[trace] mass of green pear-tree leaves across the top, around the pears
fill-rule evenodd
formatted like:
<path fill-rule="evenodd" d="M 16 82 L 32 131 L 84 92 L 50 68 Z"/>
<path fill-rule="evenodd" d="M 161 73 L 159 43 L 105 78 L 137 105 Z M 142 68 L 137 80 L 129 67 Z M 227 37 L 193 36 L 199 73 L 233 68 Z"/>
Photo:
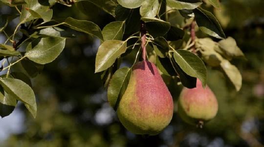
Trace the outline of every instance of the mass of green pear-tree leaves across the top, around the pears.
<path fill-rule="evenodd" d="M 212 7 L 208 9 L 208 5 L 201 0 L 44 0 L 43 3 L 39 0 L 1 1 L 14 10 L 18 9 L 16 14 L 0 16 L 0 20 L 3 20 L 0 21 L 0 32 L 9 38 L 0 45 L 3 74 L 0 80 L 2 117 L 12 112 L 2 110 L 9 110 L 10 106 L 14 109 L 18 100 L 35 117 L 36 100 L 28 78 L 35 77 L 43 70 L 44 64 L 55 60 L 65 48 L 66 42 L 78 37 L 80 32 L 101 41 L 94 59 L 95 72 L 102 74 L 105 86 L 109 85 L 110 97 L 121 97 L 126 88 L 126 80 L 129 80 L 126 75 L 131 66 L 120 68 L 120 63 L 127 58 L 132 63 L 141 60 L 140 24 L 146 25 L 148 59 L 157 65 L 165 79 L 174 83 L 181 82 L 183 86 L 192 88 L 196 78 L 199 78 L 205 85 L 207 79 L 212 79 L 212 75 L 207 72 L 211 73 L 209 67 L 213 67 L 226 75 L 226 79 L 237 91 L 242 87 L 242 76 L 234 63 L 239 61 L 236 58 L 244 58 L 244 53 L 233 38 L 225 39 L 219 24 L 221 19 L 218 21 L 208 11 Z M 218 0 L 206 0 L 206 3 L 221 9 Z M 61 4 L 74 5 L 81 11 L 86 11 L 88 5 L 93 4 L 106 13 L 109 22 L 78 20 L 78 16 L 68 13 L 63 18 L 58 17 L 59 14 L 55 11 Z M 179 17 L 183 20 L 180 23 L 173 20 L 176 12 L 179 12 Z M 220 12 L 216 12 L 217 16 L 220 15 L 218 13 Z M 90 12 L 86 15 L 96 14 Z M 8 24 L 16 17 L 20 21 L 11 32 L 7 30 L 10 27 Z M 198 26 L 194 29 L 197 31 L 199 28 L 195 39 L 191 35 L 194 20 Z M 200 31 L 216 38 L 205 37 Z M 26 76 L 15 76 L 16 71 Z M 220 73 L 214 75 L 221 77 Z M 24 99 L 24 96 L 28 97 Z"/>

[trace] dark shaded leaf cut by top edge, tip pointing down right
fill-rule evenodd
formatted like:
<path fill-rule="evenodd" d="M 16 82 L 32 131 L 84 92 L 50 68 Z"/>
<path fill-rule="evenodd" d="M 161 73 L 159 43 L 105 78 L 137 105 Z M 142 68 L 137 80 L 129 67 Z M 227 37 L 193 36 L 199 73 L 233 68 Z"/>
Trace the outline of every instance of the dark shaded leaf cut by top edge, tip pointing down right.
<path fill-rule="evenodd" d="M 115 7 L 117 6 L 115 0 L 88 0 L 88 1 L 96 5 L 97 7 L 101 8 L 105 12 L 109 13 L 113 17 L 115 17 L 114 10 Z"/>

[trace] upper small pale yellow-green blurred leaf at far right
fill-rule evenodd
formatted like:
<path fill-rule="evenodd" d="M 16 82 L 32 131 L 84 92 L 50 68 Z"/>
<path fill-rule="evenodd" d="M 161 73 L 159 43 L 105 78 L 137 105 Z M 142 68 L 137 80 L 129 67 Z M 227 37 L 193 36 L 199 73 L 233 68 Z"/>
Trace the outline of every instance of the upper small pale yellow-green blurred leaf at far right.
<path fill-rule="evenodd" d="M 232 57 L 244 57 L 243 52 L 237 46 L 236 40 L 232 37 L 222 39 L 219 43 L 219 47 L 225 56 Z"/>

